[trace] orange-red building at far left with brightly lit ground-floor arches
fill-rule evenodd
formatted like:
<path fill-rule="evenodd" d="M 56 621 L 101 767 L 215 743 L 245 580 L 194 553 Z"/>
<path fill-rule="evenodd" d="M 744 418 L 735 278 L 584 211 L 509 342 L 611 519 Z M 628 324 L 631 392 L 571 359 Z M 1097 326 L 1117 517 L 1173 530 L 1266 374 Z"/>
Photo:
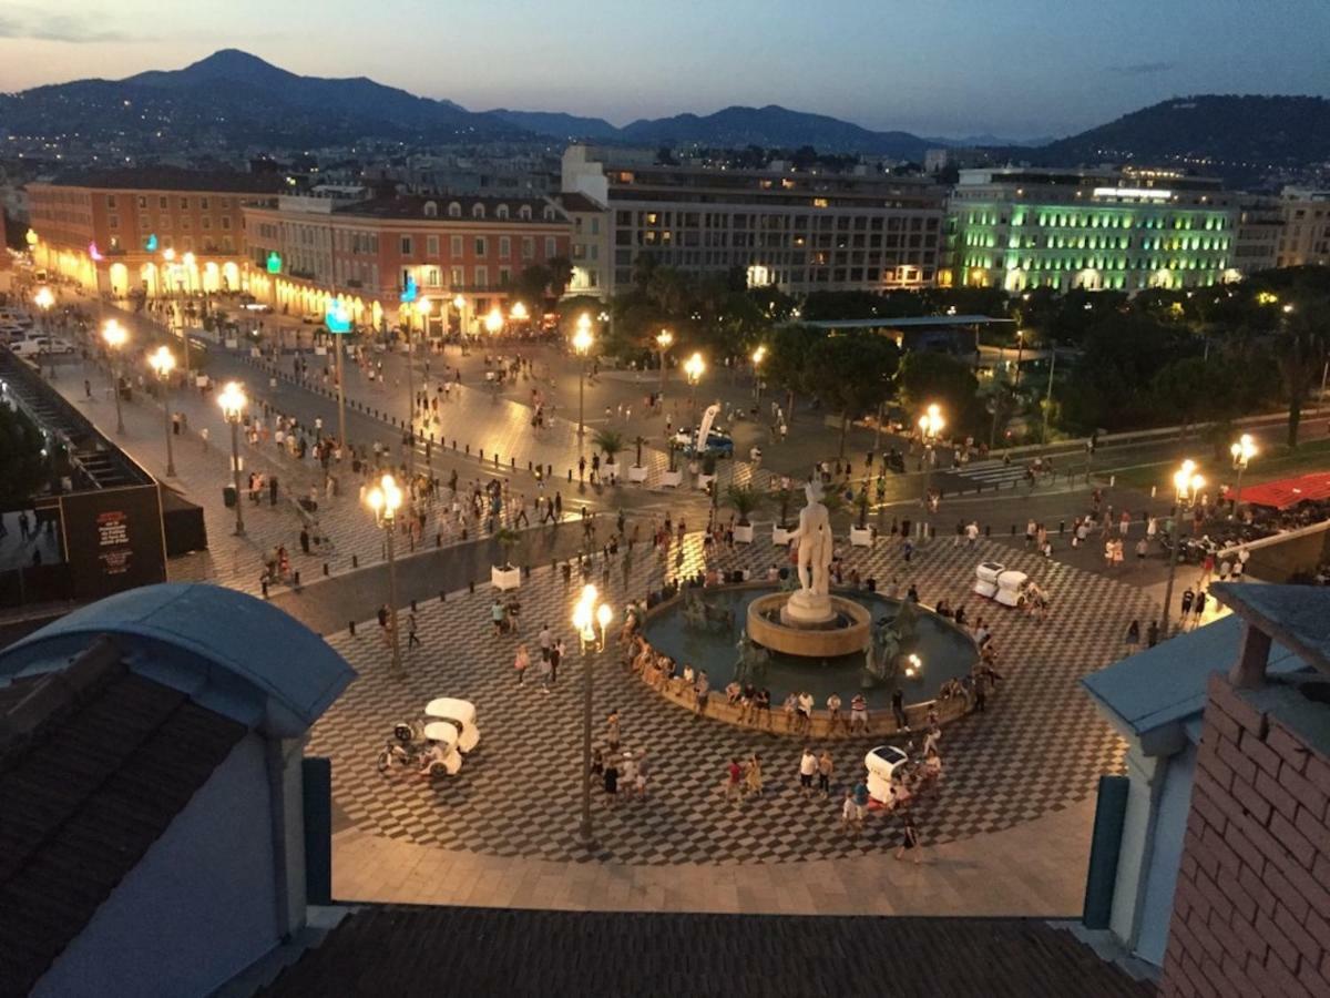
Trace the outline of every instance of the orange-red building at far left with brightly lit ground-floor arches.
<path fill-rule="evenodd" d="M 39 267 L 114 298 L 238 291 L 243 206 L 278 178 L 165 166 L 72 173 L 28 185 Z"/>

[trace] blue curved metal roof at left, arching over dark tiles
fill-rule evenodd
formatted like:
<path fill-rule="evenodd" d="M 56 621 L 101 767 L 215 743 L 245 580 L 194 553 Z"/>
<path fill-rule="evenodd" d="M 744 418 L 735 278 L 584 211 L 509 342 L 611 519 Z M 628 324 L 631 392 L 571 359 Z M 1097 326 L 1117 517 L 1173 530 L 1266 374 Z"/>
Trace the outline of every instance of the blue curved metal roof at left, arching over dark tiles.
<path fill-rule="evenodd" d="M 145 585 L 68 613 L 0 652 L 0 684 L 64 668 L 108 635 L 136 672 L 278 737 L 310 728 L 355 679 L 270 603 L 202 583 Z"/>

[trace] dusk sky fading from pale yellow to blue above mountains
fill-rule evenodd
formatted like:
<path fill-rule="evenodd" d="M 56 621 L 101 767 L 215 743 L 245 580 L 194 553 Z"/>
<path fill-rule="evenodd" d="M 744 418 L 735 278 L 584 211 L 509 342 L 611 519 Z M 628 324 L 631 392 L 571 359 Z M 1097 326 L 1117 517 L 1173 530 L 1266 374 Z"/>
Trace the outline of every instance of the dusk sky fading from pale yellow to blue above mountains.
<path fill-rule="evenodd" d="M 1184 0 L 1164 11 L 1133 0 L 1096 28 L 1092 53 L 1085 25 L 1055 20 L 1043 0 L 1008 5 L 1001 24 L 987 24 L 974 0 L 943 7 L 855 11 L 858 29 L 847 33 L 845 19 L 810 21 L 786 0 L 690 4 L 685 17 L 625 15 L 597 0 L 580 20 L 549 24 L 535 21 L 527 3 L 462 4 L 446 25 L 402 31 L 411 3 L 387 0 L 370 16 L 336 0 L 319 8 L 321 44 L 309 45 L 301 11 L 273 12 L 257 0 L 233 4 L 234 21 L 251 25 L 245 29 L 202 29 L 188 11 L 141 0 L 94 25 L 80 20 L 77 4 L 17 4 L 0 15 L 0 89 L 121 79 L 237 47 L 291 72 L 367 76 L 471 110 L 567 112 L 624 125 L 779 104 L 879 130 L 1011 140 L 1072 134 L 1174 96 L 1330 93 L 1330 67 L 1317 51 L 1330 9 L 1303 0 L 1286 3 L 1290 16 L 1260 36 L 1241 31 L 1237 0 L 1204 8 Z M 1142 35 L 1145 23 L 1152 28 Z M 641 45 L 642 36 L 654 44 Z M 1178 37 L 1189 44 L 1180 48 Z M 1017 57 L 1032 47 L 1039 59 Z M 505 59 L 509 52 L 521 57 Z"/>

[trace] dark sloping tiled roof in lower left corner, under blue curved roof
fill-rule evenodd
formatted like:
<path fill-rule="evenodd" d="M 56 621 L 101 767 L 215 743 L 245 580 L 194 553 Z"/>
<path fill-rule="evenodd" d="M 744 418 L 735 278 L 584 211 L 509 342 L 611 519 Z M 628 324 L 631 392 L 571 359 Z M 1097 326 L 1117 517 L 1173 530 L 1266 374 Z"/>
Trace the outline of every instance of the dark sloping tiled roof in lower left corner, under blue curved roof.
<path fill-rule="evenodd" d="M 245 732 L 109 640 L 0 687 L 0 995 L 32 989 Z"/>

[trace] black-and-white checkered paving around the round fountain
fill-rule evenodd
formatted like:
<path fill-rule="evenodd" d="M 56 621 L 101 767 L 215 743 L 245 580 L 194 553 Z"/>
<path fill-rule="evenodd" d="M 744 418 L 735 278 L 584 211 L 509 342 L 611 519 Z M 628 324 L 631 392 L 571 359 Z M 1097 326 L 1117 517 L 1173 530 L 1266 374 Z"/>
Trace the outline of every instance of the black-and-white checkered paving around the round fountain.
<path fill-rule="evenodd" d="M 696 571 L 698 536 L 685 542 L 680 571 Z M 1080 692 L 1077 679 L 1116 660 L 1133 617 L 1145 619 L 1148 600 L 1113 579 L 1081 572 L 996 544 L 976 550 L 932 542 L 910 566 L 899 548 L 879 539 L 870 552 L 845 552 L 861 572 L 900 588 L 915 583 L 924 603 L 939 597 L 964 603 L 968 616 L 990 623 L 1001 649 L 1004 676 L 988 711 L 944 729 L 940 752 L 946 770 L 939 788 L 918 802 L 916 824 L 926 842 L 979 836 L 1031 821 L 1093 793 L 1101 773 L 1121 766 L 1124 745 Z M 773 548 L 759 543 L 721 555 L 728 567 L 759 571 Z M 1000 556 L 1029 572 L 1051 595 L 1044 623 L 988 604 L 968 592 L 974 567 Z M 672 550 L 668 568 L 674 571 Z M 610 570 L 601 584 L 616 607 L 658 584 L 665 564 L 638 547 Z M 571 649 L 568 623 L 580 589 L 549 570 L 537 571 L 520 589 L 523 639 L 536 647 L 548 621 Z M 839 830 L 839 804 L 849 781 L 859 776 L 871 740 L 829 741 L 837 770 L 830 800 L 799 794 L 795 739 L 746 731 L 698 719 L 668 703 L 618 664 L 606 651 L 595 660 L 595 728 L 602 743 L 612 708 L 622 719 L 625 748 L 645 749 L 650 760 L 649 796 L 606 805 L 593 788 L 597 845 L 579 842 L 581 788 L 581 661 L 572 651 L 548 695 L 528 676 L 516 685 L 516 640 L 489 633 L 491 591 L 450 595 L 419 607 L 423 648 L 406 655 L 407 677 L 394 680 L 388 651 L 371 624 L 331 639 L 359 671 L 313 732 L 309 750 L 332 760 L 335 806 L 355 826 L 392 838 L 495 856 L 556 861 L 606 860 L 629 864 L 785 862 L 871 854 L 899 842 L 899 824 L 872 814 L 858 838 Z M 404 625 L 403 625 L 404 628 Z M 532 671 L 533 672 L 533 671 Z M 438 696 L 472 700 L 481 741 L 452 778 L 424 781 L 410 774 L 380 776 L 375 754 L 392 724 L 420 716 Z M 777 712 L 779 713 L 779 712 Z M 782 721 L 775 720 L 777 725 Z M 815 745 L 821 748 L 821 744 Z M 766 793 L 726 802 L 721 781 L 729 758 L 762 757 Z"/>

